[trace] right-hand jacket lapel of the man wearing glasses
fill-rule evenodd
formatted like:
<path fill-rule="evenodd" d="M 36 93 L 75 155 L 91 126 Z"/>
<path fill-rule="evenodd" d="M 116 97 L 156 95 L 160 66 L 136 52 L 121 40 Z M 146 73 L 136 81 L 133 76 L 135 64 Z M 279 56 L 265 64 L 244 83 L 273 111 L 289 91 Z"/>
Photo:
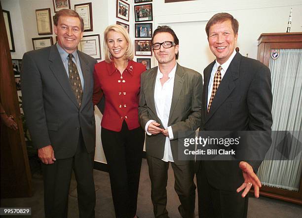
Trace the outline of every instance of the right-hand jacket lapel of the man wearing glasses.
<path fill-rule="evenodd" d="M 170 114 L 169 114 L 169 121 L 178 102 L 180 93 L 183 89 L 183 83 L 184 83 L 183 75 L 184 72 L 182 67 L 179 64 L 177 64 L 175 78 L 174 78 L 174 87 L 173 87 L 172 103 L 171 103 Z"/>

